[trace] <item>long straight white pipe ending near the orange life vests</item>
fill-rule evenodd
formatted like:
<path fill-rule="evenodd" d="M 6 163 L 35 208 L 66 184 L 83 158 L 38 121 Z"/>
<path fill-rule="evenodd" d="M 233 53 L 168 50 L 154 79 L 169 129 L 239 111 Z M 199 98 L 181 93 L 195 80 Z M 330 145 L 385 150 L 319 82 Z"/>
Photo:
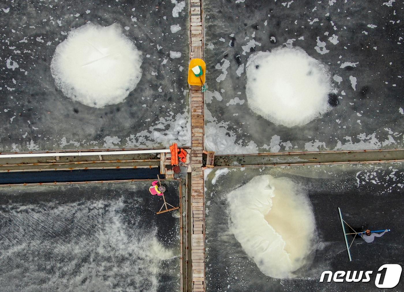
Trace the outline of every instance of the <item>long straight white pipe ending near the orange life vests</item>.
<path fill-rule="evenodd" d="M 156 150 L 122 150 L 122 151 L 87 151 L 87 152 L 34 152 L 34 153 L 13 153 L 0 154 L 0 158 L 12 157 L 49 157 L 49 156 L 91 156 L 91 155 L 123 155 L 123 154 L 144 154 L 144 153 L 167 153 L 170 149 Z"/>

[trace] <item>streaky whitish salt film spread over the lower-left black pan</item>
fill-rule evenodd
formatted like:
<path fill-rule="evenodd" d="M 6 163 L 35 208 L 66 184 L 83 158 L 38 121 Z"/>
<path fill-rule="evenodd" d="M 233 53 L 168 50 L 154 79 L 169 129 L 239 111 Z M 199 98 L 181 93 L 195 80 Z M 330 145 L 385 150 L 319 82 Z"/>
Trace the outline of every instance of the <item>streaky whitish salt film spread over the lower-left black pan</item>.
<path fill-rule="evenodd" d="M 127 208 L 126 198 L 3 205 L 2 291 L 159 291 L 178 251 Z"/>

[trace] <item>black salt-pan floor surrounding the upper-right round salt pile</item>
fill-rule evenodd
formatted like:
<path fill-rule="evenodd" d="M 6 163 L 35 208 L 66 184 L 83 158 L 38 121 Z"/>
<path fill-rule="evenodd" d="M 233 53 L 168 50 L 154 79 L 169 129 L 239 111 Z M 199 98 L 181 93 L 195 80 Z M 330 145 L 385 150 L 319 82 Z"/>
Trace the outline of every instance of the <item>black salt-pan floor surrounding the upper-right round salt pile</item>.
<path fill-rule="evenodd" d="M 333 150 L 338 142 L 349 142 L 345 137 L 358 143 L 361 140 L 357 136 L 366 133 L 364 141 L 372 140 L 374 134 L 378 143 L 359 146 L 360 149 L 403 147 L 404 115 L 400 113 L 400 107 L 404 108 L 403 79 L 400 76 L 404 42 L 400 39 L 402 24 L 398 22 L 402 21 L 403 3 L 392 2 L 389 6 L 388 1 L 345 2 L 203 1 L 208 90 L 216 90 L 223 97 L 221 101 L 213 98 L 206 107 L 217 123 L 227 123 L 236 141 L 242 140 L 244 146 L 253 141 L 259 152 L 316 150 L 317 146 L 320 150 Z M 328 40 L 333 34 L 338 36 L 337 44 Z M 326 43 L 328 53 L 316 51 L 318 37 Z M 242 46 L 251 40 L 261 46 L 256 45 L 242 54 Z M 330 111 L 301 127 L 275 125 L 251 111 L 246 98 L 245 70 L 240 77 L 236 74 L 252 52 L 286 45 L 303 48 L 328 67 L 331 77 L 339 75 L 343 79 L 341 84 L 332 81 L 338 93 L 329 96 Z M 228 60 L 230 67 L 226 78 L 218 83 L 216 78 L 223 72 L 215 66 L 222 65 L 222 59 Z M 345 62 L 358 64 L 341 68 Z M 349 76 L 357 78 L 356 90 Z M 244 104 L 226 106 L 235 97 L 244 100 Z M 289 143 L 281 144 L 279 150 L 263 147 L 270 145 L 275 135 L 283 143 L 290 141 L 292 147 L 285 149 Z M 389 136 L 395 142 L 388 142 Z M 344 149 L 353 148 L 358 146 L 348 145 Z M 220 152 L 231 154 L 226 149 Z"/>

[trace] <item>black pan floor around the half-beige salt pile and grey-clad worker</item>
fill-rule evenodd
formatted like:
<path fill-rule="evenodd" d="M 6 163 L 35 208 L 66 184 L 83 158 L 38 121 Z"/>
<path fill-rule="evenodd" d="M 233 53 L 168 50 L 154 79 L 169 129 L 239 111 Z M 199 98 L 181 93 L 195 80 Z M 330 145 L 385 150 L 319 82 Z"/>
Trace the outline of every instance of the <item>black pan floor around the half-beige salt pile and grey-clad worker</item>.
<path fill-rule="evenodd" d="M 296 271 L 296 278 L 264 275 L 229 229 L 227 194 L 255 176 L 267 174 L 291 179 L 306 194 L 314 213 L 318 248 L 311 254 L 312 262 Z M 378 291 L 375 277 L 379 267 L 404 265 L 404 163 L 232 168 L 212 185 L 214 176 L 213 171 L 205 181 L 206 291 Z M 355 240 L 349 262 L 338 207 L 358 232 L 368 228 L 391 232 L 370 244 Z M 350 244 L 352 238 L 348 240 Z M 323 271 L 373 274 L 366 283 L 320 283 Z M 402 291 L 403 285 L 401 279 L 393 291 Z"/>

